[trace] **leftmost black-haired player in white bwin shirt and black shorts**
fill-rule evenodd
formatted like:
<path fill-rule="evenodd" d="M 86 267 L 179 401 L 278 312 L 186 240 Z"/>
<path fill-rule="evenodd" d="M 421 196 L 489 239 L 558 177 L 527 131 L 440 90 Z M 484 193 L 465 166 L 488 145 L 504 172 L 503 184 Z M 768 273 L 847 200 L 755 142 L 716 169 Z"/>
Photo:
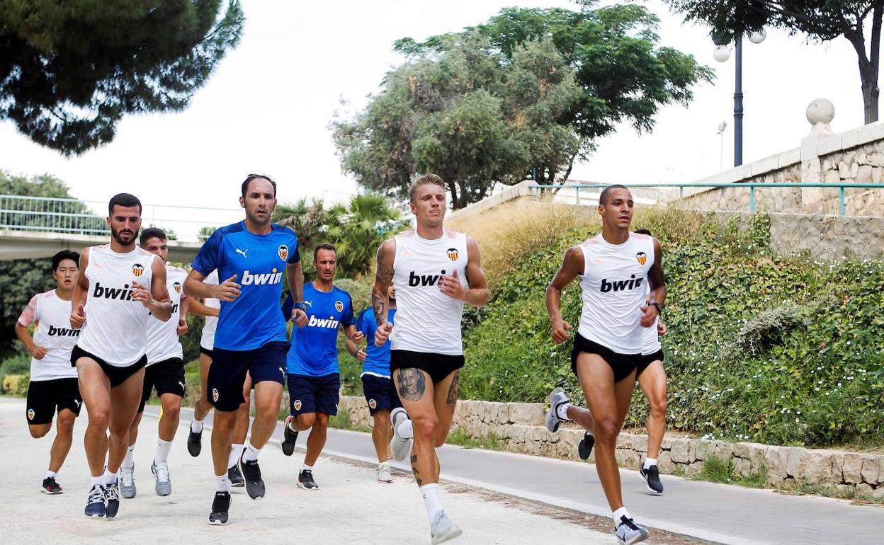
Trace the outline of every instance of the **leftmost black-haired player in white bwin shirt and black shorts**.
<path fill-rule="evenodd" d="M 27 385 L 27 428 L 34 439 L 50 433 L 56 420 L 56 438 L 50 450 L 50 467 L 40 490 L 61 494 L 56 476 L 65 463 L 73 442 L 73 420 L 80 414 L 77 370 L 71 367 L 71 351 L 79 329 L 71 328 L 71 298 L 80 275 L 80 254 L 62 250 L 52 256 L 52 278 L 56 289 L 31 298 L 15 324 L 15 334 L 31 354 L 31 382 Z M 34 338 L 28 326 L 36 323 Z"/>

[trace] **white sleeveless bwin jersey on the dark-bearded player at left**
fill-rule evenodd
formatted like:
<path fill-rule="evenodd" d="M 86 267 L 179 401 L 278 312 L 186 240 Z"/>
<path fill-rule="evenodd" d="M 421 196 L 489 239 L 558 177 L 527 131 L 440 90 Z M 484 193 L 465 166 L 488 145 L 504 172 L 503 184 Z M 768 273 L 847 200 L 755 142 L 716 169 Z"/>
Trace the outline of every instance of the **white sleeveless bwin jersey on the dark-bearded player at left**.
<path fill-rule="evenodd" d="M 141 360 L 148 349 L 149 311 L 132 300 L 132 283 L 150 288 L 156 255 L 135 246 L 118 254 L 110 245 L 89 248 L 85 274 L 89 282 L 86 323 L 77 344 L 115 367 Z"/>

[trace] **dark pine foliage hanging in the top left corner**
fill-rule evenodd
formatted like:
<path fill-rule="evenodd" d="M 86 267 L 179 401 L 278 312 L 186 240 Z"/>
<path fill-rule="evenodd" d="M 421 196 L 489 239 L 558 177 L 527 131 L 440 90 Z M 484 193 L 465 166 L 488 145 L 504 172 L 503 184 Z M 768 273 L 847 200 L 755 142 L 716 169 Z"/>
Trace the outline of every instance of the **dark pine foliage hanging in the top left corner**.
<path fill-rule="evenodd" d="M 72 155 L 126 114 L 183 110 L 240 40 L 239 1 L 221 4 L 0 0 L 0 119 Z"/>

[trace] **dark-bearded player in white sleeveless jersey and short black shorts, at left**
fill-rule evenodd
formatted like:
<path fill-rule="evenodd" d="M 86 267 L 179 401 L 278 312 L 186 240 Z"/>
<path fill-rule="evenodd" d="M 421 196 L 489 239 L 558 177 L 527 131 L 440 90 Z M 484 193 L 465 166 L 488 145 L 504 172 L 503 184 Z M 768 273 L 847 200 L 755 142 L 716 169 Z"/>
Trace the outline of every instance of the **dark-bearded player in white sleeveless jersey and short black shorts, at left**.
<path fill-rule="evenodd" d="M 82 330 L 71 365 L 77 367 L 89 416 L 84 443 L 92 484 L 86 516 L 113 519 L 119 509 L 117 472 L 129 448 L 148 362 L 149 314 L 169 320 L 171 301 L 163 260 L 135 245 L 141 201 L 119 193 L 108 211 L 110 244 L 80 254 L 71 327 Z"/>

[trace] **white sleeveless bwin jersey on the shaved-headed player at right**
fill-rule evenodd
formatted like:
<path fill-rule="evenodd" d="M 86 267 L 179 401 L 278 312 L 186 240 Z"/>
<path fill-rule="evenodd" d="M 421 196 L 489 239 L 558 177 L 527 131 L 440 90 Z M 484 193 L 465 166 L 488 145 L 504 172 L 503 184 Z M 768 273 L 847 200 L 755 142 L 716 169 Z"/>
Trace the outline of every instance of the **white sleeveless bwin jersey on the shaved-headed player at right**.
<path fill-rule="evenodd" d="M 654 262 L 653 238 L 629 234 L 611 244 L 601 234 L 580 245 L 583 250 L 583 312 L 577 329 L 584 338 L 621 354 L 643 352 L 645 329 L 639 323 L 644 288 Z"/>

